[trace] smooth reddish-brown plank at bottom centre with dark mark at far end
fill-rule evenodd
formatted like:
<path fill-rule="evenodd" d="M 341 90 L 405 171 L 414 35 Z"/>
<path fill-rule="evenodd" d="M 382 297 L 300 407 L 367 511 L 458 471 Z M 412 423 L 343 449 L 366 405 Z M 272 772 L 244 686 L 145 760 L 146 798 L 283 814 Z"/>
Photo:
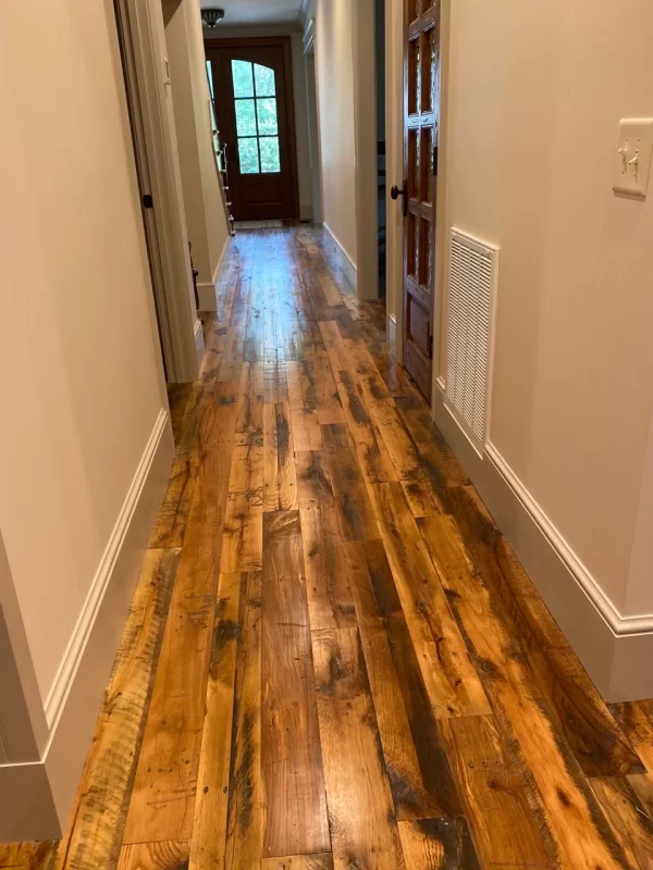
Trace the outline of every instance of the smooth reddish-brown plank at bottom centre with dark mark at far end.
<path fill-rule="evenodd" d="M 328 852 L 329 823 L 298 511 L 267 513 L 262 576 L 263 855 Z"/>

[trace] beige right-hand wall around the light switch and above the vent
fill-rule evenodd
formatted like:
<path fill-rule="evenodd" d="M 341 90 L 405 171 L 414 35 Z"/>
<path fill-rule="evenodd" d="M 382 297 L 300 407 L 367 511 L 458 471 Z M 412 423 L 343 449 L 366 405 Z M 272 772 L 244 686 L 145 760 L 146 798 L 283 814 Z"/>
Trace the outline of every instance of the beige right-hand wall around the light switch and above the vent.
<path fill-rule="evenodd" d="M 612 184 L 619 119 L 653 115 L 653 7 L 451 5 L 447 226 L 501 247 L 491 442 L 617 610 L 651 612 L 641 555 L 631 591 L 628 576 L 653 409 L 653 191 Z"/>

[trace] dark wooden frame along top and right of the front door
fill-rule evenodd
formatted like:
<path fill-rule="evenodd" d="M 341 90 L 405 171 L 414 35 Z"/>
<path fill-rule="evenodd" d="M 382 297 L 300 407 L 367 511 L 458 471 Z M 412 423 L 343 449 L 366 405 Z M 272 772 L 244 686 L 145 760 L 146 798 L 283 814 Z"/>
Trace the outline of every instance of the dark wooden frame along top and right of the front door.
<path fill-rule="evenodd" d="M 239 27 L 219 26 L 213 30 L 205 27 L 204 36 L 209 39 L 220 37 L 289 36 L 293 55 L 293 99 L 295 108 L 295 139 L 297 147 L 297 183 L 299 187 L 299 216 L 303 221 L 313 220 L 310 149 L 308 140 L 308 98 L 304 69 L 304 48 L 301 32 L 295 25 L 243 25 Z M 215 95 L 219 99 L 219 95 Z"/>

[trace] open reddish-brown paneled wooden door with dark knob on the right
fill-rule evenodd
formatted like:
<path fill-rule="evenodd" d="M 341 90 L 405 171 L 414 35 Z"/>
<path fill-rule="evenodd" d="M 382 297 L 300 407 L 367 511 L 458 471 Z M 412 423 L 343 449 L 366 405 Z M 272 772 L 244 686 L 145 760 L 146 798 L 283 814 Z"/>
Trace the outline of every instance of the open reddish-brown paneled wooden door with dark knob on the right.
<path fill-rule="evenodd" d="M 404 366 L 427 400 L 433 375 L 440 2 L 404 0 Z"/>

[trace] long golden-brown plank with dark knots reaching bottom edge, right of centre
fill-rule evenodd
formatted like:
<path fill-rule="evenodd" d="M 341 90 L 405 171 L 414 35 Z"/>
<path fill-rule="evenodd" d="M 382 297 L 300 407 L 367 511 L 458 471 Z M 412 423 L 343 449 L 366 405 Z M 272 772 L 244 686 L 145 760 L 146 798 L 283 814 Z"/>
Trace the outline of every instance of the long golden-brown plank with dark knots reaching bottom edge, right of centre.
<path fill-rule="evenodd" d="M 472 574 L 453 521 L 420 521 L 438 564 L 442 542 L 459 547 L 456 571 L 441 573 L 448 600 L 492 704 L 510 762 L 528 799 L 538 808 L 542 835 L 555 847 L 555 860 L 578 870 L 627 867 L 623 849 L 601 812 L 555 716 L 547 707 L 501 611 L 483 583 Z M 555 865 L 554 865 L 555 866 Z"/>

